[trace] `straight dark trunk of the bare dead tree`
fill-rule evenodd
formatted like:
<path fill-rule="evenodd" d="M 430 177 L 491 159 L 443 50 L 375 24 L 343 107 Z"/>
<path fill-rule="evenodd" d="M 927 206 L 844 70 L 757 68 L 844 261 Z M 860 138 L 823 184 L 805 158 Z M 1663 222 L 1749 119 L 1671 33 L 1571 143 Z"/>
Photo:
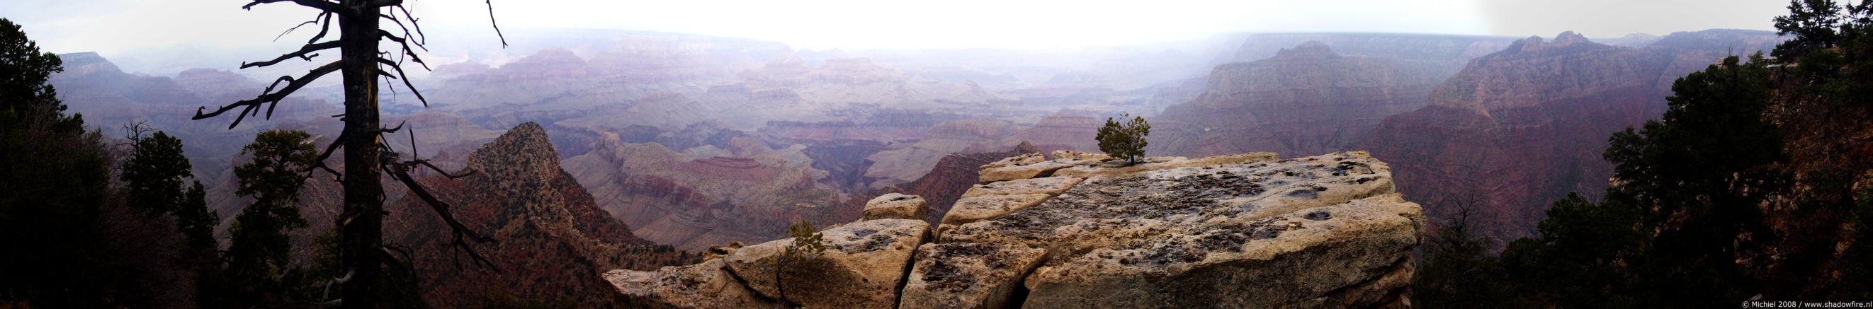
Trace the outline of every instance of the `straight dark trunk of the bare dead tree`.
<path fill-rule="evenodd" d="M 378 15 L 369 0 L 343 0 L 341 52 L 345 75 L 345 217 L 341 225 L 345 266 L 345 307 L 378 307 L 384 255 L 384 185 L 378 178 L 376 56 Z"/>

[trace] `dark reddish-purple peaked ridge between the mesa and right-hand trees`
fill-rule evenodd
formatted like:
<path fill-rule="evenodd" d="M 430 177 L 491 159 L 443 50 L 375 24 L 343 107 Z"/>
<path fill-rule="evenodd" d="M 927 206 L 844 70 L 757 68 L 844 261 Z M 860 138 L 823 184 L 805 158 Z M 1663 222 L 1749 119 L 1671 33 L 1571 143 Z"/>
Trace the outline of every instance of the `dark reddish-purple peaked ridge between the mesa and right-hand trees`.
<path fill-rule="evenodd" d="M 1392 163 L 1399 191 L 1429 200 L 1429 213 L 1476 202 L 1480 225 L 1513 240 L 1532 232 L 1555 199 L 1603 191 L 1613 174 L 1601 159 L 1607 137 L 1663 114 L 1673 81 L 1774 37 L 1680 32 L 1644 49 L 1573 32 L 1521 39 L 1476 58 L 1431 92 L 1431 105 L 1386 118 L 1358 148 Z"/>

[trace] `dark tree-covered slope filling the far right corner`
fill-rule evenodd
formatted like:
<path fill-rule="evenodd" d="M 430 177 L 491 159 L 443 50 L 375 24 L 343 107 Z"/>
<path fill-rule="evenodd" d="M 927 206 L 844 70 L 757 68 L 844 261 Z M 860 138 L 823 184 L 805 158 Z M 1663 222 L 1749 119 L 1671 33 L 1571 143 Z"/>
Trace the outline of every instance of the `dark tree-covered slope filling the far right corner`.
<path fill-rule="evenodd" d="M 1609 139 L 1605 159 L 1616 167 L 1601 199 L 1556 200 L 1540 238 L 1510 242 L 1498 257 L 1435 249 L 1414 287 L 1423 305 L 1869 296 L 1873 112 L 1864 101 L 1873 75 L 1860 67 L 1873 66 L 1873 2 L 1789 7 L 1776 24 L 1794 39 L 1777 58 L 1729 56 L 1678 79 L 1661 120 Z M 1502 290 L 1512 298 L 1487 298 Z"/>

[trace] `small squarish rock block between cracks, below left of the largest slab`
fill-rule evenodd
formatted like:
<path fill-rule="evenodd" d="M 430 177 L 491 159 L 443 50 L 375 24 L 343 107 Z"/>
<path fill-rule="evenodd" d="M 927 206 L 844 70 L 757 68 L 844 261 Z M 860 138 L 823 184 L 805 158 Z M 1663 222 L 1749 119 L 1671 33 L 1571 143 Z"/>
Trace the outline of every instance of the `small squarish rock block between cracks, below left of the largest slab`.
<path fill-rule="evenodd" d="M 1015 243 L 923 243 L 899 307 L 1006 307 L 1043 257 L 1045 249 Z"/>

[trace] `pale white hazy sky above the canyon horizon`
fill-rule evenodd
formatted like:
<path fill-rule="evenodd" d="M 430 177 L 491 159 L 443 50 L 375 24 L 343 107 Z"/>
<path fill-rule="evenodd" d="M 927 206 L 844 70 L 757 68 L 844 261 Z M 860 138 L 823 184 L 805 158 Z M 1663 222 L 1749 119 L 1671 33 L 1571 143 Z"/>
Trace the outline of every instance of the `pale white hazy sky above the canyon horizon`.
<path fill-rule="evenodd" d="M 245 0 L 0 0 L 41 49 L 292 49 L 313 17 Z M 479 0 L 412 0 L 429 30 L 487 32 Z M 1783 0 L 494 0 L 502 28 L 618 28 L 781 41 L 796 49 L 1047 49 L 1201 39 L 1221 32 L 1427 32 L 1590 37 L 1768 30 Z M 472 32 L 468 32 L 472 30 Z M 509 37 L 526 39 L 526 37 Z M 303 41 L 303 39 L 302 39 Z"/>

